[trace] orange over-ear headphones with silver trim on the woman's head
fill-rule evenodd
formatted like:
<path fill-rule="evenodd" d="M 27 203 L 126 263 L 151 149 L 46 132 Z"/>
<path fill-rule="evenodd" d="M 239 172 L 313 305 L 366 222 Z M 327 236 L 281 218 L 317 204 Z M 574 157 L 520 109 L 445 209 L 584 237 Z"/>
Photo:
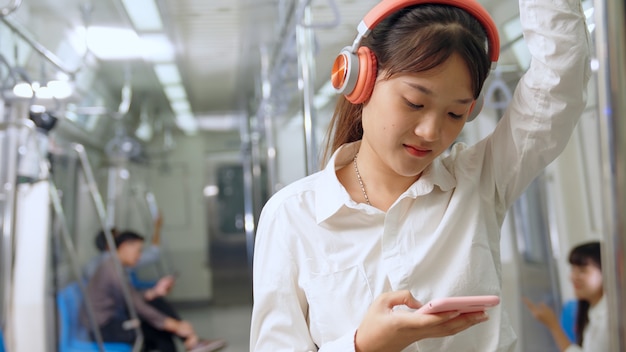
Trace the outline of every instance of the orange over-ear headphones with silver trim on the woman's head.
<path fill-rule="evenodd" d="M 361 40 L 383 19 L 400 9 L 413 5 L 442 4 L 458 7 L 474 16 L 487 33 L 488 54 L 493 70 L 500 55 L 500 38 L 493 19 L 476 0 L 382 0 L 372 8 L 357 27 L 358 34 L 352 43 L 341 50 L 333 63 L 331 83 L 337 93 L 348 101 L 361 104 L 369 99 L 376 81 L 376 55 L 368 47 L 359 47 Z M 468 121 L 473 120 L 482 107 L 482 96 L 474 102 Z M 476 109 L 475 109 L 476 108 Z M 474 112 L 474 110 L 476 110 Z"/>

